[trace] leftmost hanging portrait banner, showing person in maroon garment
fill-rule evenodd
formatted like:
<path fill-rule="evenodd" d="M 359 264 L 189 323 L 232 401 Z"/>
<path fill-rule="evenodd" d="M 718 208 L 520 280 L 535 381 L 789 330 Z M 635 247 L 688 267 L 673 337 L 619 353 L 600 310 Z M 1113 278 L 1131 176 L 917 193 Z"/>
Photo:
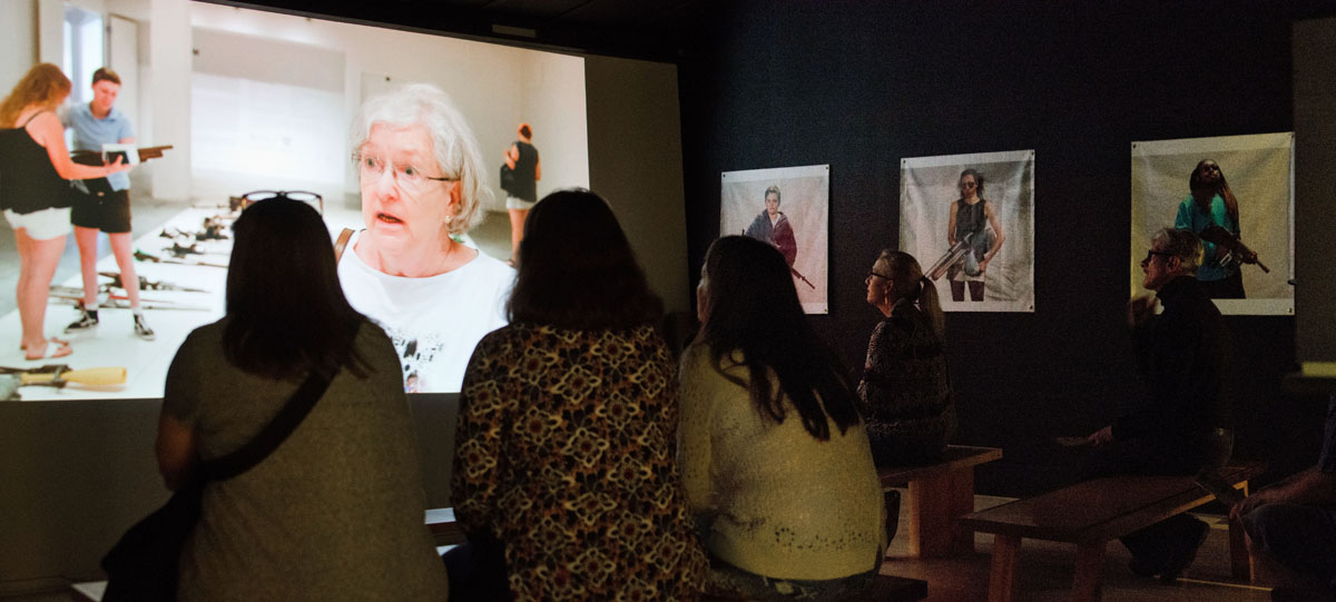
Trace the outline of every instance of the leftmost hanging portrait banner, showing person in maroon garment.
<path fill-rule="evenodd" d="M 719 234 L 747 235 L 784 255 L 803 311 L 827 314 L 831 166 L 725 171 L 720 182 Z"/>

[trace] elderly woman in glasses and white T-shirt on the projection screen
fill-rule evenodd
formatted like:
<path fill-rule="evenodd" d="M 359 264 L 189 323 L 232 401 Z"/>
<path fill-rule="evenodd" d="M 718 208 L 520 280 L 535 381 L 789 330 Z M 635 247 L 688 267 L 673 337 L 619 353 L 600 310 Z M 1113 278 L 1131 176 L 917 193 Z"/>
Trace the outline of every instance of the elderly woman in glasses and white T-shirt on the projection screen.
<path fill-rule="evenodd" d="M 458 391 L 478 339 L 506 324 L 514 283 L 505 263 L 461 242 L 490 194 L 478 143 L 428 84 L 366 100 L 351 141 L 366 228 L 339 256 L 343 292 L 394 340 L 405 383 Z"/>

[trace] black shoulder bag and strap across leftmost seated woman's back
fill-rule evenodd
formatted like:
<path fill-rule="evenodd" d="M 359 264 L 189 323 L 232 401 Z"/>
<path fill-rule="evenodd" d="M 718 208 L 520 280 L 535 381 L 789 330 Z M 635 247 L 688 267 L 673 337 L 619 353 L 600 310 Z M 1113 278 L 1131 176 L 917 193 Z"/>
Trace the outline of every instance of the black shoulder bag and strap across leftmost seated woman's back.
<path fill-rule="evenodd" d="M 269 457 L 302 423 L 329 388 L 330 379 L 311 372 L 278 415 L 239 450 L 202 461 L 163 507 L 139 521 L 102 559 L 107 571 L 103 602 L 175 601 L 180 551 L 199 522 L 204 483 L 246 473 Z"/>

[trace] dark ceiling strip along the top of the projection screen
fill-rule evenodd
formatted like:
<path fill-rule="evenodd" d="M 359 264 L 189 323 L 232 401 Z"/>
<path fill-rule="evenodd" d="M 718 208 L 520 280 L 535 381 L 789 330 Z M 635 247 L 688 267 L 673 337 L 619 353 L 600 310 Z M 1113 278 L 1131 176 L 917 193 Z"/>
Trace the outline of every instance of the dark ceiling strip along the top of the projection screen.
<path fill-rule="evenodd" d="M 673 61 L 695 52 L 709 0 L 199 0 L 510 44 Z"/>

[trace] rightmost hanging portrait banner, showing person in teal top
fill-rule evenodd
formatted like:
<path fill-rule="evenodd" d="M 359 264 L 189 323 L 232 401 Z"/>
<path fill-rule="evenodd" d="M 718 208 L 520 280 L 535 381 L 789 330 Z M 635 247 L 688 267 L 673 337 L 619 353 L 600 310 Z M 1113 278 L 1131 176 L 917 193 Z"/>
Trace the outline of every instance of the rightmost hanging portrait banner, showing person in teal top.
<path fill-rule="evenodd" d="M 1293 145 L 1293 132 L 1132 143 L 1132 294 L 1146 294 L 1150 236 L 1190 228 L 1204 240 L 1197 278 L 1222 314 L 1292 315 Z"/>

